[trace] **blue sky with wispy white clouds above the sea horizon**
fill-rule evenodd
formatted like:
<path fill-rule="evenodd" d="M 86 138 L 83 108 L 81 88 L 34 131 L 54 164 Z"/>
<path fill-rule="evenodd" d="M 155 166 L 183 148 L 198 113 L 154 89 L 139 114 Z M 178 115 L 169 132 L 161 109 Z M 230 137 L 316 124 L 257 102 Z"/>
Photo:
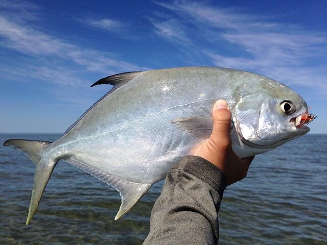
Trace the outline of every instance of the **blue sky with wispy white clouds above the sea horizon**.
<path fill-rule="evenodd" d="M 62 133 L 119 72 L 252 71 L 297 91 L 327 133 L 327 1 L 0 1 L 0 132 Z M 132 101 L 131 101 L 132 103 Z"/>

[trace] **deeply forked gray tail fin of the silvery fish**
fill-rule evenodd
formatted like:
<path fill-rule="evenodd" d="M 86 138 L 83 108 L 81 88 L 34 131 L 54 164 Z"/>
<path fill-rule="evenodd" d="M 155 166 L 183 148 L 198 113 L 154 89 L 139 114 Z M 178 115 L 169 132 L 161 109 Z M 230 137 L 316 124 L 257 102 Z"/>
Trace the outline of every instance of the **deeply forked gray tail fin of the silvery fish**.
<path fill-rule="evenodd" d="M 45 186 L 50 179 L 54 167 L 59 161 L 57 159 L 43 157 L 45 154 L 42 153 L 49 144 L 51 144 L 49 141 L 23 139 L 9 139 L 4 143 L 4 146 L 10 146 L 11 148 L 16 149 L 36 164 L 34 172 L 34 186 L 26 225 L 30 223 L 34 213 L 36 212 Z"/>

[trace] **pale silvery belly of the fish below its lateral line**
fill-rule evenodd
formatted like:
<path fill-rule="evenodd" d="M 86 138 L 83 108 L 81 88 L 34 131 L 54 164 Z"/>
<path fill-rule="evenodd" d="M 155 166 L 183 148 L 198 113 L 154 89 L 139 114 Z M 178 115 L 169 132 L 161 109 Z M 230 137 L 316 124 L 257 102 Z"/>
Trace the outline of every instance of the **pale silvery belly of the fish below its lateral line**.
<path fill-rule="evenodd" d="M 181 132 L 170 121 L 194 114 L 211 116 L 208 114 L 211 104 L 202 101 L 174 107 L 144 116 L 120 129 L 109 127 L 105 133 L 92 134 L 64 151 L 107 175 L 153 184 L 164 179 L 172 165 L 200 140 Z"/>

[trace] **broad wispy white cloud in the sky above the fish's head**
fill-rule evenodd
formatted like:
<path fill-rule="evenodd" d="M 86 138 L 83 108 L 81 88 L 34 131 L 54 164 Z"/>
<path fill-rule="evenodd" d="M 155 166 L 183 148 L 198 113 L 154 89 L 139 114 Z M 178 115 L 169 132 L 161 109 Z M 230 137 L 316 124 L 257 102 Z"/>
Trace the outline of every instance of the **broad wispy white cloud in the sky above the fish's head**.
<path fill-rule="evenodd" d="M 192 47 L 201 50 L 201 55 L 194 48 L 189 49 L 190 53 L 205 55 L 215 66 L 250 70 L 287 84 L 312 86 L 315 81 L 327 93 L 326 69 L 319 65 L 319 59 L 327 55 L 326 33 L 304 30 L 236 8 L 186 1 L 157 4 L 178 16 L 172 25 L 161 18 L 157 26 L 166 24 L 168 30 L 182 33 L 184 40 L 192 40 Z M 181 30 L 174 28 L 178 25 Z M 181 39 L 173 41 L 188 45 Z"/>

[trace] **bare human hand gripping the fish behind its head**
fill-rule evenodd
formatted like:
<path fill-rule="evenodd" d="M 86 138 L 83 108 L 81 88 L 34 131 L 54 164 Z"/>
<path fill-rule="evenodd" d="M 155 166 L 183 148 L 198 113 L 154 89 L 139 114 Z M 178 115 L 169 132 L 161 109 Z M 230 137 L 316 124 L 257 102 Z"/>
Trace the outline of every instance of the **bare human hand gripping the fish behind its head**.
<path fill-rule="evenodd" d="M 231 149 L 231 115 L 224 100 L 216 102 L 213 111 L 214 128 L 211 136 L 200 144 L 193 153 L 213 163 L 226 176 L 227 185 L 244 179 L 253 157 L 239 158 Z"/>

